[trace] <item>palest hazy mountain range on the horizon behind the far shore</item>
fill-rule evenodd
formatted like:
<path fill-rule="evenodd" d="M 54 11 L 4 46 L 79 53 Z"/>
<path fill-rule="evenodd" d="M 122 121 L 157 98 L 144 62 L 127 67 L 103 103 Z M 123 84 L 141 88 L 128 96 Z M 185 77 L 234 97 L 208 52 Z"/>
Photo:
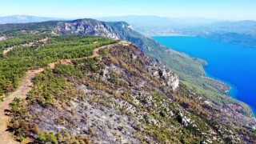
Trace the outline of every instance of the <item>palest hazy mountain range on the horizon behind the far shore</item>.
<path fill-rule="evenodd" d="M 98 18 L 98 20 L 105 22 L 128 22 L 130 25 L 134 26 L 136 30 L 139 30 L 141 32 L 151 32 L 155 30 L 157 30 L 155 31 L 155 33 L 157 33 L 159 30 L 176 30 L 176 32 L 180 30 L 180 32 L 182 32 L 182 30 L 186 29 L 200 28 L 199 30 L 212 29 L 241 33 L 246 33 L 248 31 L 254 30 L 254 33 L 256 33 L 256 29 L 254 29 L 256 26 L 256 22 L 250 20 L 227 21 L 210 18 L 169 18 L 158 16 L 106 17 Z M 148 28 L 150 28 L 150 30 Z M 212 30 L 210 30 L 210 32 Z M 193 31 L 197 30 L 195 29 Z"/>

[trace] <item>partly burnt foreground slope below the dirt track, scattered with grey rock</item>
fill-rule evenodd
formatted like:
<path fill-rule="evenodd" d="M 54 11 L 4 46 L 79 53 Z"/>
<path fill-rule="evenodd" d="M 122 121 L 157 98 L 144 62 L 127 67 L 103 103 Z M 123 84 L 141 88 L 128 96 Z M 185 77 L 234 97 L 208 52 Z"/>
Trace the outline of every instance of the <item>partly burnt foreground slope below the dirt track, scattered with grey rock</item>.
<path fill-rule="evenodd" d="M 26 100 L 10 104 L 14 134 L 42 143 L 252 142 L 240 126 L 211 119 L 218 107 L 208 113 L 203 98 L 191 101 L 174 73 L 130 42 L 105 47 L 37 75 Z"/>

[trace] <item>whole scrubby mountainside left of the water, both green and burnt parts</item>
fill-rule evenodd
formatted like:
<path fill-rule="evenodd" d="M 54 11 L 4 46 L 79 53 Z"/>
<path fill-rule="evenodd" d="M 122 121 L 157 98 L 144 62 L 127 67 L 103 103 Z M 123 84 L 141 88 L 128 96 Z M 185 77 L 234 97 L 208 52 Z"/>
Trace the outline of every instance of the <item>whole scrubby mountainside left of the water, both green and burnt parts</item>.
<path fill-rule="evenodd" d="M 203 78 L 200 60 L 143 37 L 126 22 L 83 19 L 0 30 L 1 50 L 7 50 L 0 57 L 3 96 L 20 90 L 27 70 L 44 68 L 26 99 L 14 98 L 6 110 L 19 141 L 255 141 L 248 106 L 218 90 L 220 82 Z"/>

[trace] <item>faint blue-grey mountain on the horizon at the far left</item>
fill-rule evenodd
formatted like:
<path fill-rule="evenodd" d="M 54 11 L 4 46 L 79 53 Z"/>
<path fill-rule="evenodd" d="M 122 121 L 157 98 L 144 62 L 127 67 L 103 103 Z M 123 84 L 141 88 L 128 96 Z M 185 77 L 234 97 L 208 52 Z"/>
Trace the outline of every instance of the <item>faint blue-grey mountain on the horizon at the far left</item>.
<path fill-rule="evenodd" d="M 46 17 L 34 17 L 29 15 L 11 15 L 6 17 L 0 17 L 0 24 L 5 23 L 28 23 L 28 22 L 46 22 L 52 20 L 64 20 L 65 18 L 46 18 Z"/>

